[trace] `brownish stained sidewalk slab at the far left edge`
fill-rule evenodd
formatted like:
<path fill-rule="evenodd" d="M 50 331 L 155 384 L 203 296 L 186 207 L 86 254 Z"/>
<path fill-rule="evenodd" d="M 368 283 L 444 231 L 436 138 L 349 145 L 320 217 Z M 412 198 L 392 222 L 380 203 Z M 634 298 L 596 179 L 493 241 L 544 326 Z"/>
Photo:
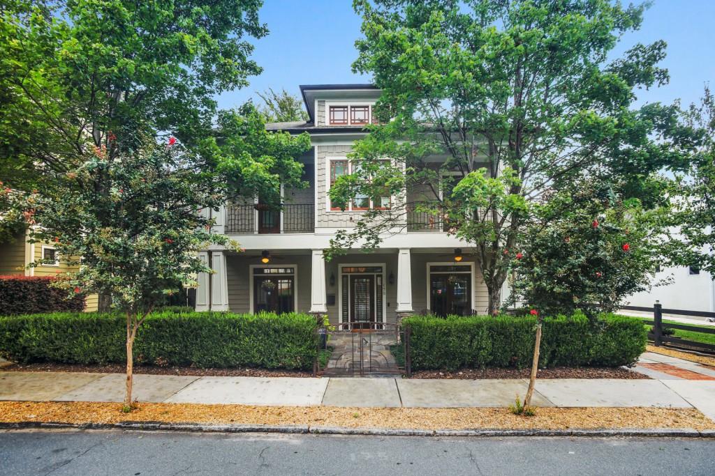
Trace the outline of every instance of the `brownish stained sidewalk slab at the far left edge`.
<path fill-rule="evenodd" d="M 0 400 L 57 400 L 104 377 L 104 373 L 0 372 Z"/>

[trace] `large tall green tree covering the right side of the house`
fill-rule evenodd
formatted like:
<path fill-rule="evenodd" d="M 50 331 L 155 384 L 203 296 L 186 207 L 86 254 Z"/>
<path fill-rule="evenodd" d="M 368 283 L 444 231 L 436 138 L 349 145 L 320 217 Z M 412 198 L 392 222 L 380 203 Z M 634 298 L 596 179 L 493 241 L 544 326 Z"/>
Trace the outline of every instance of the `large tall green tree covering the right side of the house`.
<path fill-rule="evenodd" d="M 638 88 L 666 83 L 665 43 L 613 57 L 646 5 L 606 0 L 356 0 L 363 18 L 353 69 L 381 90 L 380 125 L 355 144 L 352 176 L 330 196 L 395 197 L 332 240 L 332 253 L 379 245 L 415 217 L 464 240 L 501 305 L 533 203 L 584 177 L 627 180 L 656 201 L 649 178 L 684 165 L 690 136 L 679 108 L 633 108 Z M 385 161 L 383 159 L 389 159 Z M 378 171 L 381 169 L 381 171 Z M 413 192 L 405 196 L 407 191 Z M 424 191 L 428 191 L 428 198 Z M 408 201 L 407 206 L 405 201 Z M 373 203 L 375 201 L 373 200 Z"/>

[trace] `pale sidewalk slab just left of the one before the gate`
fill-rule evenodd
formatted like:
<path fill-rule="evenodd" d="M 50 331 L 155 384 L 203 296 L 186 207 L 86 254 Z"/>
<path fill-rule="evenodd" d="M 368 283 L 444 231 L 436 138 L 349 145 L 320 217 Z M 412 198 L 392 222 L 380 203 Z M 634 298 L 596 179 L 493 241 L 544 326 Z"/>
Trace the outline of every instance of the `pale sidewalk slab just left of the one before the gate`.
<path fill-rule="evenodd" d="M 326 386 L 326 378 L 202 377 L 165 401 L 240 405 L 320 405 Z"/>

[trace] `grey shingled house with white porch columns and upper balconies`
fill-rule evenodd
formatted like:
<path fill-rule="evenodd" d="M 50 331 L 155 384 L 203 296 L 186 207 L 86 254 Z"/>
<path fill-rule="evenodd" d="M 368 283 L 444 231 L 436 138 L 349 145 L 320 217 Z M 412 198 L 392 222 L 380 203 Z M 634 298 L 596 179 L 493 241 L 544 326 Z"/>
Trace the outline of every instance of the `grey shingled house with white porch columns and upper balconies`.
<path fill-rule="evenodd" d="M 215 273 L 199 275 L 196 309 L 327 313 L 341 328 L 395 323 L 411 313 L 486 313 L 488 294 L 475 256 L 443 231 L 438 218 L 413 211 L 415 203 L 437 198 L 432 188 L 398 197 L 358 196 L 346 211 L 331 206 L 330 183 L 350 173 L 347 153 L 373 121 L 380 91 L 370 84 L 300 86 L 300 91 L 308 121 L 269 123 L 267 129 L 310 133 L 312 148 L 300 158 L 310 186 L 282 190 L 282 211 L 266 210 L 256 200 L 206 212 L 215 216 L 217 233 L 237 240 L 245 252 L 217 247 L 201 253 Z M 407 207 L 403 229 L 386 236 L 373 253 L 355 249 L 330 262 L 323 258 L 336 231 L 355 226 L 365 210 L 383 206 Z M 457 262 L 455 253 L 464 253 L 463 259 Z"/>

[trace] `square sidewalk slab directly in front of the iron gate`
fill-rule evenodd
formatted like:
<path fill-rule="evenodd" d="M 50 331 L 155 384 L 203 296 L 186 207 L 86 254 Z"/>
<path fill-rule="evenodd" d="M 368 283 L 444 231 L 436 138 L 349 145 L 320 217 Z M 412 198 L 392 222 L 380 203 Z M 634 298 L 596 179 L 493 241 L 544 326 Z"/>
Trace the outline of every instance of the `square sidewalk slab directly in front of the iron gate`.
<path fill-rule="evenodd" d="M 394 378 L 331 378 L 322 404 L 331 407 L 399 407 Z"/>

